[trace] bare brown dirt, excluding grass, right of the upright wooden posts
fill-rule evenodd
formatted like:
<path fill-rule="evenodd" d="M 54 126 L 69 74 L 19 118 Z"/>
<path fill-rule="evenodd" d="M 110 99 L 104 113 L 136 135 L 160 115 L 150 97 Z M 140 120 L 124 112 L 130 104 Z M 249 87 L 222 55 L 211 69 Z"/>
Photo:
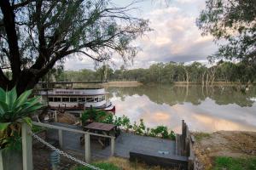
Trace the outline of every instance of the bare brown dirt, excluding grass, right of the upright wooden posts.
<path fill-rule="evenodd" d="M 256 132 L 193 133 L 193 149 L 200 169 L 211 169 L 216 156 L 256 156 Z"/>

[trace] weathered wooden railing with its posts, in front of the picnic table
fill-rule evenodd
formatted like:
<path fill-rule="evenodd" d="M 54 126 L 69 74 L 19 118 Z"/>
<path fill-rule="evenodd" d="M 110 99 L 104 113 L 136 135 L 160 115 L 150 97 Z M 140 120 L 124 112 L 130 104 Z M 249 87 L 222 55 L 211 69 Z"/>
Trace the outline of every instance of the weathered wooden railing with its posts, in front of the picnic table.
<path fill-rule="evenodd" d="M 84 132 L 82 130 L 68 128 L 68 127 L 60 127 L 51 124 L 41 123 L 41 122 L 32 122 L 33 125 L 40 127 L 48 127 L 57 129 L 59 132 L 59 144 L 60 147 L 63 148 L 63 131 L 73 132 L 73 133 L 82 133 L 84 134 L 84 161 L 90 162 L 91 154 L 90 154 L 90 135 L 99 136 L 103 138 L 111 139 L 111 156 L 114 154 L 114 139 L 113 136 L 108 136 L 104 134 L 98 133 L 89 133 Z M 22 123 L 22 157 L 23 157 L 23 170 L 32 170 L 32 134 L 30 127 L 27 126 L 26 123 Z"/>

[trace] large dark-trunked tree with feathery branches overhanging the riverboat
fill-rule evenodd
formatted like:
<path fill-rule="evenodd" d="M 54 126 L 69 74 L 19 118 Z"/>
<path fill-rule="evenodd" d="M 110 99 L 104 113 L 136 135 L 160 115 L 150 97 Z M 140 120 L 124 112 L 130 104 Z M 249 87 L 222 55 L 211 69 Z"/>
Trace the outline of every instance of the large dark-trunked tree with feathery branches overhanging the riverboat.
<path fill-rule="evenodd" d="M 0 8 L 0 87 L 16 86 L 19 94 L 72 54 L 133 59 L 131 41 L 149 30 L 147 20 L 128 14 L 131 5 L 118 8 L 108 0 L 1 0 Z"/>

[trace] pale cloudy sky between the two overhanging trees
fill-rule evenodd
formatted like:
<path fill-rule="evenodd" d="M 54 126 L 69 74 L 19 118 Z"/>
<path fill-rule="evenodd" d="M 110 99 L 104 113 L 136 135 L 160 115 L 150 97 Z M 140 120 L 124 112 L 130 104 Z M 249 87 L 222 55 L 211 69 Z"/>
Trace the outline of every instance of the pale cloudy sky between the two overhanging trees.
<path fill-rule="evenodd" d="M 127 69 L 148 68 L 158 62 L 184 62 L 199 61 L 208 65 L 207 56 L 217 50 L 211 36 L 202 37 L 201 31 L 195 25 L 205 0 L 143 0 L 134 5 L 137 10 L 131 14 L 149 20 L 153 31 L 137 38 L 134 42 L 141 49 L 133 64 L 126 65 Z M 113 0 L 117 6 L 122 7 L 131 0 Z M 123 60 L 114 55 L 113 69 L 119 69 Z M 64 65 L 65 70 L 78 71 L 81 69 L 95 69 L 92 59 L 84 56 L 72 56 Z"/>

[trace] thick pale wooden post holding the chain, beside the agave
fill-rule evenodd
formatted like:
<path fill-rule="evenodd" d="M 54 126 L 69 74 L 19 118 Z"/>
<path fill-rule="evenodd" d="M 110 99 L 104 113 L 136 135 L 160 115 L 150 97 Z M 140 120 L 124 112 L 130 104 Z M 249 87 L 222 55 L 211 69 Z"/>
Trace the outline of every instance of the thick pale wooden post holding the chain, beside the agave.
<path fill-rule="evenodd" d="M 32 170 L 32 135 L 31 128 L 25 123 L 21 123 L 21 137 L 22 137 L 22 161 L 23 170 Z"/>

